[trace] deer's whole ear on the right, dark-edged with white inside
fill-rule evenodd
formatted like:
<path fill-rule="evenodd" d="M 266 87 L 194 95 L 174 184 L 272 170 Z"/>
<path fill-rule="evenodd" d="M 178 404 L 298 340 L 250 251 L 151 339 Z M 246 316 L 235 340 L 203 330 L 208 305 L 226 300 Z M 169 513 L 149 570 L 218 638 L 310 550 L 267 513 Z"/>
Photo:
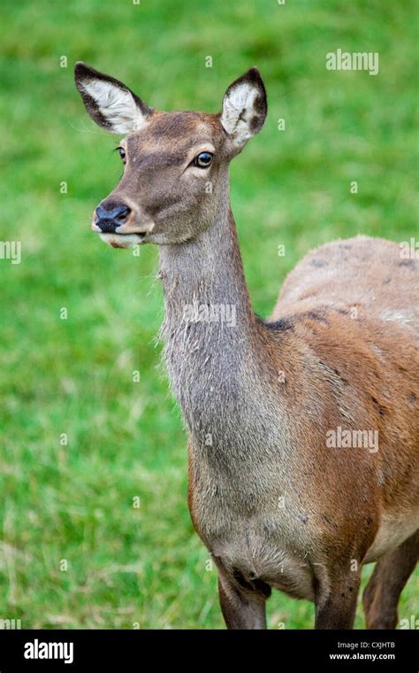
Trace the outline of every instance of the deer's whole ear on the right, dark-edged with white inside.
<path fill-rule="evenodd" d="M 262 77 L 253 67 L 225 91 L 221 123 L 233 143 L 241 149 L 263 127 L 267 110 Z"/>

